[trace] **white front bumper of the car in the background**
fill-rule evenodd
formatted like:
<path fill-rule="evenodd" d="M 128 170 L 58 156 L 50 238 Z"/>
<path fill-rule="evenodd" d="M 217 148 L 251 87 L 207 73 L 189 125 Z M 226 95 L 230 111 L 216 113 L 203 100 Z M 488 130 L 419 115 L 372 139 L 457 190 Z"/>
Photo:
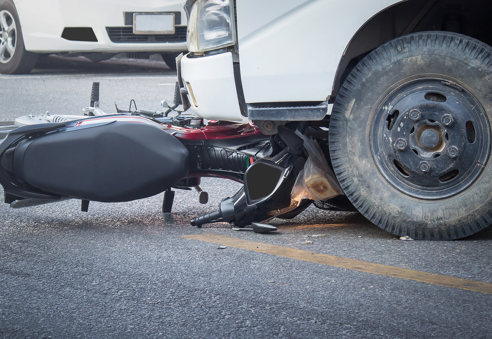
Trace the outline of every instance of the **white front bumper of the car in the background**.
<path fill-rule="evenodd" d="M 141 0 L 14 0 L 26 50 L 38 53 L 56 52 L 182 52 L 186 45 L 186 14 L 180 1 Z M 133 34 L 125 24 L 123 12 L 180 13 L 176 20 L 179 38 L 170 41 L 146 41 Z M 90 27 L 97 41 L 72 41 L 62 38 L 64 28 Z M 115 30 L 116 29 L 116 30 Z M 114 32 L 113 32 L 114 31 Z M 110 36 L 112 32 L 112 36 Z M 184 34 L 183 34 L 184 33 Z M 118 36 L 119 35 L 119 36 Z M 171 34 L 170 34 L 171 35 Z M 150 41 L 152 40 L 152 41 Z"/>

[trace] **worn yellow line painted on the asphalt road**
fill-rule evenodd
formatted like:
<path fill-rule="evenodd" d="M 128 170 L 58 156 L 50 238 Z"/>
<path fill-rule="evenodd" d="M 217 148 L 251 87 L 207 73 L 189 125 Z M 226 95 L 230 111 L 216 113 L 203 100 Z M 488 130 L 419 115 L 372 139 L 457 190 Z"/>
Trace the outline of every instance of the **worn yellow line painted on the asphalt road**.
<path fill-rule="evenodd" d="M 428 284 L 459 288 L 461 290 L 492 294 L 492 284 L 481 281 L 460 279 L 452 276 L 427 273 L 394 266 L 369 263 L 367 261 L 337 257 L 334 255 L 313 253 L 302 249 L 271 245 L 263 242 L 248 241 L 234 237 L 225 237 L 212 234 L 196 234 L 184 236 L 186 239 L 201 240 L 215 244 L 242 248 L 254 252 L 277 255 L 279 257 L 292 258 L 321 265 L 335 266 L 343 269 L 361 271 L 372 274 L 392 276 L 400 279 L 409 279 Z"/>

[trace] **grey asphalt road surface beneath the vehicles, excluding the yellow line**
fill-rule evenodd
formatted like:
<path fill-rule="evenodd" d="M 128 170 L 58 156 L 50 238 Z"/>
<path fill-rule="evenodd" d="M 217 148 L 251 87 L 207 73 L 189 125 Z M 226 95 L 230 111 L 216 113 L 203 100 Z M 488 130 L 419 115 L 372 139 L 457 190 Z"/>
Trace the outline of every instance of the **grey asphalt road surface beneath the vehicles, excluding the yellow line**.
<path fill-rule="evenodd" d="M 74 65 L 75 64 L 75 65 Z M 0 75 L 0 120 L 135 99 L 158 109 L 176 74 L 163 63 L 47 59 Z M 203 180 L 210 202 L 178 191 L 129 203 L 0 204 L 1 338 L 490 338 L 492 295 L 183 238 L 226 236 L 492 283 L 492 229 L 458 241 L 401 241 L 358 213 L 311 206 L 259 235 L 189 219 L 240 186 Z M 0 192 L 1 194 L 1 192 Z M 313 238 L 324 234 L 326 237 Z M 305 236 L 308 236 L 306 238 Z M 302 245 L 306 239 L 309 245 Z M 261 245 L 260 245 L 261 246 Z M 265 245 L 267 246 L 267 245 Z M 275 282 L 270 282 L 275 281 Z M 487 285 L 488 286 L 488 285 Z"/>

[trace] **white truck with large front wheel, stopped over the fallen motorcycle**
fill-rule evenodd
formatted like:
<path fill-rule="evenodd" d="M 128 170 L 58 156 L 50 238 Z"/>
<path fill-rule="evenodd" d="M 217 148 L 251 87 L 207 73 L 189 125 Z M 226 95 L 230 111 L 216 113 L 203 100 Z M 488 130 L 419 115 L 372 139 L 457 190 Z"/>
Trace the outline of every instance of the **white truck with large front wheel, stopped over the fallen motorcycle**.
<path fill-rule="evenodd" d="M 346 196 L 396 235 L 456 239 L 492 224 L 491 1 L 183 4 L 185 106 L 267 135 L 327 127 Z"/>

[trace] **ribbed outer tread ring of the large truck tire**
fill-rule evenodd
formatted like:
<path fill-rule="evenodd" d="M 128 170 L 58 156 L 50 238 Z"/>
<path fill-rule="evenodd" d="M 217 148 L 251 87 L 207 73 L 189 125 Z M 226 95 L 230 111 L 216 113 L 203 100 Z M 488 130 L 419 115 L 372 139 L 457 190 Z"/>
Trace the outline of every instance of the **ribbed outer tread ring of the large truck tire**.
<path fill-rule="evenodd" d="M 413 239 L 451 240 L 466 237 L 488 227 L 492 223 L 492 208 L 485 216 L 469 224 L 459 224 L 439 229 L 425 229 L 412 224 L 410 220 L 391 219 L 378 208 L 372 206 L 359 192 L 346 165 L 343 152 L 343 129 L 346 124 L 344 108 L 351 100 L 351 93 L 372 71 L 381 69 L 382 62 L 412 50 L 441 49 L 459 53 L 473 60 L 479 66 L 492 68 L 492 50 L 484 43 L 464 35 L 447 32 L 428 32 L 409 34 L 396 38 L 370 52 L 342 84 L 335 101 L 330 121 L 329 147 L 334 172 L 347 198 L 369 221 L 383 230 L 398 236 L 408 235 Z"/>

